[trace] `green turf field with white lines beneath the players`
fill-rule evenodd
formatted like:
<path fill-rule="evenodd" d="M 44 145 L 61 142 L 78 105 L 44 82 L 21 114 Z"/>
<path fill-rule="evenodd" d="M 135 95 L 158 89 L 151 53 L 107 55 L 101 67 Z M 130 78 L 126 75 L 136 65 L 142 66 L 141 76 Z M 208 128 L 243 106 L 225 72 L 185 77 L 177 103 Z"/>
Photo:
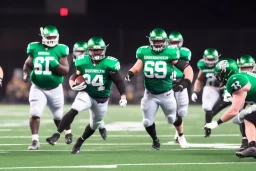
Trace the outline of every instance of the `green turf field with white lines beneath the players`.
<path fill-rule="evenodd" d="M 56 130 L 48 109 L 41 119 L 38 151 L 27 150 L 31 143 L 29 106 L 0 106 L 0 109 L 0 170 L 241 171 L 256 166 L 253 158 L 235 156 L 240 145 L 238 126 L 227 123 L 214 130 L 210 138 L 203 137 L 204 115 L 200 106 L 190 106 L 185 118 L 189 149 L 173 143 L 175 130 L 167 124 L 161 110 L 156 117 L 161 150 L 152 151 L 152 141 L 141 124 L 140 107 L 109 106 L 105 117 L 108 139 L 104 141 L 97 130 L 76 155 L 70 153 L 74 143 L 66 145 L 64 135 L 55 146 L 45 142 Z M 68 110 L 66 106 L 65 111 Z M 88 120 L 87 111 L 76 117 L 72 125 L 74 140 L 83 133 Z"/>

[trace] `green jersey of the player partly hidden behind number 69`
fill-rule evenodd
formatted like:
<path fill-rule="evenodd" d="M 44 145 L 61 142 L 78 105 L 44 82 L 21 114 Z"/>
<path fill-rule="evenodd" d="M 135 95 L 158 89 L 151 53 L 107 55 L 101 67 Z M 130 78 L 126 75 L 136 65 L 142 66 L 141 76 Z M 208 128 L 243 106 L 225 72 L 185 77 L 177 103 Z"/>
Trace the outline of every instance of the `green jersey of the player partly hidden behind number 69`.
<path fill-rule="evenodd" d="M 180 48 L 180 59 L 189 62 L 191 60 L 191 55 L 191 51 L 188 48 Z M 183 78 L 183 76 L 183 72 L 174 66 L 173 81 L 175 81 L 176 79 L 181 79 Z"/>

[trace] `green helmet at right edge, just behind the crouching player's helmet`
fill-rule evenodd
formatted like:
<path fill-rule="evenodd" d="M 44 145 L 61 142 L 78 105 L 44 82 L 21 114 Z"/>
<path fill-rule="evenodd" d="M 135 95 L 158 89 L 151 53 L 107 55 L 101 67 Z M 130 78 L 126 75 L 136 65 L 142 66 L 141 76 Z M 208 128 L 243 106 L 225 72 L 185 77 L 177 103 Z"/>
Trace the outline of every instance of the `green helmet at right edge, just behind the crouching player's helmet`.
<path fill-rule="evenodd" d="M 237 64 L 240 71 L 252 72 L 255 66 L 255 60 L 250 55 L 243 55 L 240 59 L 237 59 Z"/>

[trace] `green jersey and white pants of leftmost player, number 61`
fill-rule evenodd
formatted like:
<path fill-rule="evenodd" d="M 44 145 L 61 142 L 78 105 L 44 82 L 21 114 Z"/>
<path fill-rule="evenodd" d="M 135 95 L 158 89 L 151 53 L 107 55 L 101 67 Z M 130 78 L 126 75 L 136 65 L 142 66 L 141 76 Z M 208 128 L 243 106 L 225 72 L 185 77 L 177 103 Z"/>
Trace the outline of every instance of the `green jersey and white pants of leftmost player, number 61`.
<path fill-rule="evenodd" d="M 32 57 L 33 70 L 30 74 L 32 86 L 29 102 L 30 114 L 41 116 L 46 104 L 51 109 L 54 119 L 61 120 L 63 115 L 64 95 L 63 76 L 54 71 L 56 61 L 69 54 L 69 48 L 63 44 L 46 47 L 33 42 L 27 47 L 27 54 Z"/>

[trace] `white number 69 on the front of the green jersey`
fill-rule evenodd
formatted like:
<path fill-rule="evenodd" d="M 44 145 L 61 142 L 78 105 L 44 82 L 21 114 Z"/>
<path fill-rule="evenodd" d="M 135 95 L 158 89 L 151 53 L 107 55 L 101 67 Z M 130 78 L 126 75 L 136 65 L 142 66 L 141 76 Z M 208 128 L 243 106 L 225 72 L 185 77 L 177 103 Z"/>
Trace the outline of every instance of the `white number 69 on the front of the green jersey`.
<path fill-rule="evenodd" d="M 164 61 L 147 61 L 144 71 L 147 78 L 165 78 L 167 74 L 166 63 Z"/>

